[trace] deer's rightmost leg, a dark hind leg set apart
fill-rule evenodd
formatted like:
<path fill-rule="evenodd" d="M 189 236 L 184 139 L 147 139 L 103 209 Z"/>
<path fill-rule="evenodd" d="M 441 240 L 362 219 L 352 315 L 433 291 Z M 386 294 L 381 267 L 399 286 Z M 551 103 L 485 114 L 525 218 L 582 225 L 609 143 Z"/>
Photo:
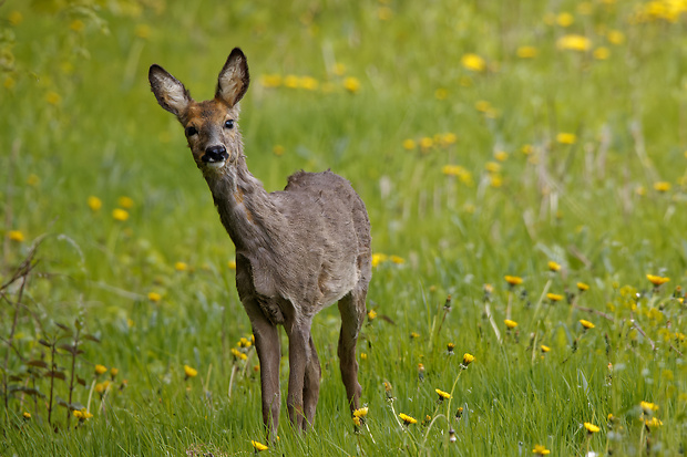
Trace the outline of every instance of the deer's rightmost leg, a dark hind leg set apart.
<path fill-rule="evenodd" d="M 351 413 L 360 407 L 362 387 L 358 383 L 358 361 L 356 360 L 356 344 L 358 334 L 365 321 L 365 298 L 367 288 L 353 289 L 339 300 L 341 313 L 341 333 L 339 334 L 339 366 L 341 380 L 346 387 L 348 405 Z"/>

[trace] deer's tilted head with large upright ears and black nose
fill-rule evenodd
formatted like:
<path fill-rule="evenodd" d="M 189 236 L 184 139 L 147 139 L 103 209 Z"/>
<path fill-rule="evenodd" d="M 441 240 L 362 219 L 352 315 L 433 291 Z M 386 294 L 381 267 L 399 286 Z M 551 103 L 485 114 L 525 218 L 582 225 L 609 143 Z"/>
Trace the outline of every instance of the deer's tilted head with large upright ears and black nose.
<path fill-rule="evenodd" d="M 234 48 L 217 79 L 215 97 L 196 102 L 176 77 L 160 65 L 148 72 L 157 103 L 184 126 L 188 147 L 204 174 L 222 173 L 243 154 L 238 132 L 238 102 L 248 90 L 248 63 Z"/>

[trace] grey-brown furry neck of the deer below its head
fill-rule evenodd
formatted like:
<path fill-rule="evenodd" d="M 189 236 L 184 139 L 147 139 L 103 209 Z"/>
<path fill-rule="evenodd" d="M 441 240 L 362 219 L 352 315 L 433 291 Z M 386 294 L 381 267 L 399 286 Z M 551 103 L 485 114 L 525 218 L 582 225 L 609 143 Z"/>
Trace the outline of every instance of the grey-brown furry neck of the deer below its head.
<path fill-rule="evenodd" d="M 275 240 L 286 236 L 284 216 L 248 170 L 243 154 L 222 173 L 204 175 L 237 252 L 256 252 L 258 248 L 271 251 Z"/>

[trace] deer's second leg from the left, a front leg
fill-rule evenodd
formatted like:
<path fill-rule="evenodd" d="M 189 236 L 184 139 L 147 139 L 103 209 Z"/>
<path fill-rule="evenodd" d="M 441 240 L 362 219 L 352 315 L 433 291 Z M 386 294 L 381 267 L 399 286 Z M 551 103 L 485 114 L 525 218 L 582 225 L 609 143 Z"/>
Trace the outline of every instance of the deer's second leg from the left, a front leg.
<path fill-rule="evenodd" d="M 286 406 L 294 428 L 303 430 L 307 424 L 303 399 L 306 371 L 310 363 L 310 323 L 297 319 L 295 321 L 285 325 L 289 339 L 289 376 Z"/>

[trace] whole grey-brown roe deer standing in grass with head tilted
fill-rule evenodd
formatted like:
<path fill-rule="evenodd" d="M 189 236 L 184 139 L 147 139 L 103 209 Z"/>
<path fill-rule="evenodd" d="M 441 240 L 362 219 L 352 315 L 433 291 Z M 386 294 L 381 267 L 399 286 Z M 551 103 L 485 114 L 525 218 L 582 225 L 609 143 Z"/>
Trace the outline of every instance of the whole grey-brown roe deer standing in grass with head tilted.
<path fill-rule="evenodd" d="M 236 246 L 236 288 L 250 319 L 260 361 L 263 420 L 276 435 L 279 408 L 279 333 L 289 339 L 288 416 L 297 429 L 312 425 L 320 364 L 312 318 L 339 302 L 338 355 L 351 413 L 359 408 L 356 342 L 371 277 L 370 221 L 350 183 L 327 170 L 298 172 L 283 191 L 268 194 L 246 166 L 238 102 L 248 90 L 246 56 L 235 48 L 219 72 L 215 97 L 195 102 L 158 65 L 148 80 L 160 105 L 185 128 L 219 219 Z"/>

